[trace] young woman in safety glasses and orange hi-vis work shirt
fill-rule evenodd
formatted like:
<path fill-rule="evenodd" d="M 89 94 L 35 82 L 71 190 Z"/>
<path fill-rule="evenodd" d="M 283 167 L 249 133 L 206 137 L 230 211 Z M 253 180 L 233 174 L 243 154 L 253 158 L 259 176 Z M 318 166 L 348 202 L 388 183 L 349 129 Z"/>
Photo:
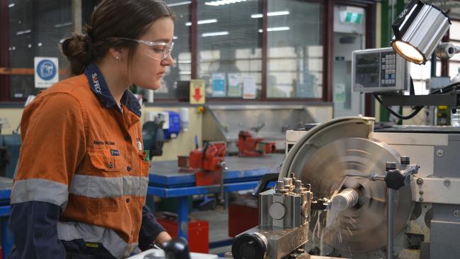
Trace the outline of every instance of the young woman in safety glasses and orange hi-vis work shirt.
<path fill-rule="evenodd" d="M 74 76 L 23 113 L 9 258 L 125 258 L 171 239 L 145 207 L 149 162 L 128 87 L 161 86 L 173 21 L 160 0 L 103 0 L 86 34 L 64 40 Z"/>

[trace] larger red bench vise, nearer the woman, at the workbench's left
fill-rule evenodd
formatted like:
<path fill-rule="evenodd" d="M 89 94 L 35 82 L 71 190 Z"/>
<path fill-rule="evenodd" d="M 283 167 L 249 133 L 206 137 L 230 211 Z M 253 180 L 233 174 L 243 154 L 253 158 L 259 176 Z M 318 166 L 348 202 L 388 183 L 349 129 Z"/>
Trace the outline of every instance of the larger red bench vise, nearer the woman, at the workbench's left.
<path fill-rule="evenodd" d="M 225 142 L 209 142 L 190 156 L 178 156 L 178 166 L 181 172 L 195 173 L 197 186 L 222 185 L 222 172 L 228 170 L 225 154 Z"/>

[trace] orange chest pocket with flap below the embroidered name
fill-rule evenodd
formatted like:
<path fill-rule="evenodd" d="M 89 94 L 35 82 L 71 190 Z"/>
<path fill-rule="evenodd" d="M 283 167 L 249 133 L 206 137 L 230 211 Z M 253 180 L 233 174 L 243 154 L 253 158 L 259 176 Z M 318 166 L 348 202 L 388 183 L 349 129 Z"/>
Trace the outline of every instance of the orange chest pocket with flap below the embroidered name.
<path fill-rule="evenodd" d="M 88 156 L 91 164 L 103 171 L 119 172 L 122 171 L 124 161 L 120 154 L 113 156 L 113 150 L 110 148 L 88 149 Z"/>

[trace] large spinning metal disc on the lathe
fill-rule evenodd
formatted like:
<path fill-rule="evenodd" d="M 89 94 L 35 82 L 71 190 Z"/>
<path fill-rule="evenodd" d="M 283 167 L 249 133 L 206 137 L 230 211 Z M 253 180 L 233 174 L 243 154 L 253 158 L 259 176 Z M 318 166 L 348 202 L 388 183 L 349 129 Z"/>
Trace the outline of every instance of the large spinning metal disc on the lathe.
<path fill-rule="evenodd" d="M 386 185 L 384 181 L 352 178 L 345 175 L 384 174 L 386 161 L 396 162 L 399 155 L 390 146 L 362 137 L 336 139 L 324 146 L 300 148 L 289 166 L 304 184 L 311 184 L 314 196 L 328 197 L 338 189 L 353 188 L 359 194 L 357 205 L 341 212 L 320 212 L 311 231 L 322 241 L 342 251 L 367 252 L 386 244 Z M 306 151 L 309 150 L 309 151 Z M 308 156 L 303 156 L 309 153 Z M 302 157 L 303 156 L 303 157 Z M 345 179 L 345 181 L 344 181 Z M 342 186 L 340 186 L 342 185 Z M 395 234 L 408 221 L 412 208 L 410 187 L 395 195 Z M 312 215 L 314 216 L 314 215 Z M 316 224 L 316 226 L 315 226 Z"/>

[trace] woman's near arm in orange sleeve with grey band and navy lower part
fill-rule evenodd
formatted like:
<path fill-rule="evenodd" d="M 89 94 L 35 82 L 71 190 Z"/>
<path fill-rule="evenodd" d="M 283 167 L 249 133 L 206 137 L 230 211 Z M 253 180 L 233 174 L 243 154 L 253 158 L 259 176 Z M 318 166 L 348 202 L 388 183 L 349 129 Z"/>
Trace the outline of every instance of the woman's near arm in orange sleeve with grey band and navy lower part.
<path fill-rule="evenodd" d="M 38 96 L 23 113 L 21 153 L 11 191 L 10 258 L 65 258 L 57 222 L 86 151 L 80 103 L 69 94 Z"/>

